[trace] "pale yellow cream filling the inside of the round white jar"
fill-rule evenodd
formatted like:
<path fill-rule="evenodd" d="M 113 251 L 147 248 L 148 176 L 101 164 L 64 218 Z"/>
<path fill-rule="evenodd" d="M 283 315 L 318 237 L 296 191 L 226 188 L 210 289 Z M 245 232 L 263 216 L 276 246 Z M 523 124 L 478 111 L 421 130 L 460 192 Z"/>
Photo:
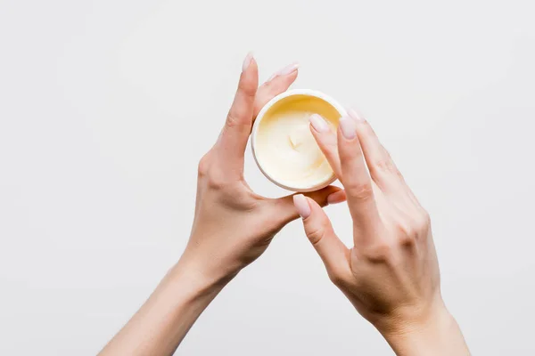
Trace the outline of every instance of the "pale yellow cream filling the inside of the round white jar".
<path fill-rule="evenodd" d="M 333 179 L 333 170 L 310 133 L 309 117 L 319 114 L 334 129 L 340 114 L 315 96 L 292 95 L 276 102 L 259 122 L 255 155 L 276 182 L 310 189 Z"/>

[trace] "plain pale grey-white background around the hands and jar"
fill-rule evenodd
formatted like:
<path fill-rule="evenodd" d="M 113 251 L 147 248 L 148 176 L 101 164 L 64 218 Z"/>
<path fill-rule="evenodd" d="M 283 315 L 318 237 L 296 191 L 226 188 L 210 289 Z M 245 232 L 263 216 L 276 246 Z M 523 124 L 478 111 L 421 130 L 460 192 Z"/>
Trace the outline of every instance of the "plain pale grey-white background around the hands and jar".
<path fill-rule="evenodd" d="M 533 2 L 0 0 L 0 353 L 93 355 L 177 261 L 243 57 L 366 114 L 473 354 L 533 355 Z M 251 186 L 281 195 L 247 152 Z M 350 240 L 344 206 L 329 207 Z M 300 223 L 179 355 L 391 355 Z"/>

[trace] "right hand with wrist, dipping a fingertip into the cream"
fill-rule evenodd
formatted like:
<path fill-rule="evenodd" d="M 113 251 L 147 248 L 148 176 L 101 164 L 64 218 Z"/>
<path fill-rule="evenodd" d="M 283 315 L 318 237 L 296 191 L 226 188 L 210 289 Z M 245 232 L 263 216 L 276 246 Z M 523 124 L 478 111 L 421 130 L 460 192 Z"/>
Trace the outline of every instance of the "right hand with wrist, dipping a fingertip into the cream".
<path fill-rule="evenodd" d="M 469 355 L 440 295 L 429 215 L 371 126 L 354 110 L 341 118 L 337 134 L 322 117 L 310 121 L 344 186 L 353 220 L 349 249 L 314 200 L 294 197 L 330 279 L 398 355 Z"/>

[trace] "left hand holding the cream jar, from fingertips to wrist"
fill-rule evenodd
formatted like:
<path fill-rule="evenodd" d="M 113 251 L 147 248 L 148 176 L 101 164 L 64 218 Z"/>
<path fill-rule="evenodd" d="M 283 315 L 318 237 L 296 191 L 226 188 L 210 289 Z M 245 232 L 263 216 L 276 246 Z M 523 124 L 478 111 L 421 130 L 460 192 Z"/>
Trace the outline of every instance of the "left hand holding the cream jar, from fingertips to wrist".
<path fill-rule="evenodd" d="M 202 279 L 232 278 L 266 250 L 277 231 L 299 217 L 292 196 L 261 197 L 243 179 L 243 153 L 254 118 L 296 77 L 297 66 L 289 66 L 257 91 L 257 62 L 249 55 L 243 63 L 226 124 L 218 142 L 199 163 L 193 229 L 180 261 L 197 271 Z M 338 190 L 327 187 L 310 193 L 309 197 L 324 206 L 327 197 Z"/>

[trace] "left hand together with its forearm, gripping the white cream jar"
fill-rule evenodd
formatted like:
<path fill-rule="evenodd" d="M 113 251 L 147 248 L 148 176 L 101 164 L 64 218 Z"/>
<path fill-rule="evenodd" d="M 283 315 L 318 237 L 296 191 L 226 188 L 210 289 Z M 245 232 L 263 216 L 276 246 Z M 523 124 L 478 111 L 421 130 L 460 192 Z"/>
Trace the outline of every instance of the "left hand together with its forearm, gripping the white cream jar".
<path fill-rule="evenodd" d="M 193 229 L 177 265 L 101 355 L 170 355 L 226 282 L 266 250 L 271 239 L 299 214 L 292 196 L 269 199 L 255 194 L 243 180 L 243 152 L 253 118 L 297 77 L 291 65 L 257 90 L 258 67 L 251 55 L 218 142 L 199 164 Z M 340 188 L 309 194 L 324 206 Z M 343 192 L 342 192 L 343 194 Z"/>

